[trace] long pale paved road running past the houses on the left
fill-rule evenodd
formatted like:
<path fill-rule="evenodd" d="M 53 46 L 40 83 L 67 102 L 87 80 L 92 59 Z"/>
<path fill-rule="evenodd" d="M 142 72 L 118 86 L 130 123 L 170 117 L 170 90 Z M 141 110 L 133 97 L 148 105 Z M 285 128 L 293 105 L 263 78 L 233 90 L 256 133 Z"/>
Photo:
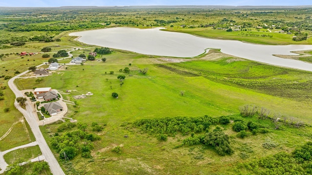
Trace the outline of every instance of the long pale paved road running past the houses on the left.
<path fill-rule="evenodd" d="M 45 63 L 42 63 L 41 65 L 37 66 L 40 67 L 42 65 L 45 65 Z M 11 90 L 14 92 L 16 97 L 22 97 L 23 94 L 20 92 L 20 90 L 15 86 L 14 84 L 14 80 L 16 78 L 18 78 L 18 76 L 24 75 L 26 73 L 28 73 L 29 70 L 24 71 L 22 73 L 20 73 L 19 75 L 11 78 L 8 81 L 8 85 L 11 88 Z M 52 151 L 50 150 L 47 142 L 44 140 L 42 133 L 39 129 L 38 123 L 36 121 L 37 118 L 37 113 L 34 112 L 31 104 L 29 104 L 28 102 L 26 102 L 26 110 L 20 107 L 20 104 L 15 101 L 14 105 L 17 109 L 19 109 L 19 111 L 24 115 L 26 121 L 28 122 L 32 132 L 34 133 L 34 136 L 38 142 L 39 148 L 42 152 L 42 155 L 45 157 L 45 160 L 48 162 L 51 172 L 53 175 L 65 175 L 63 170 L 61 169 L 61 167 L 59 166 L 59 162 L 57 161 L 57 159 L 54 157 Z"/>

